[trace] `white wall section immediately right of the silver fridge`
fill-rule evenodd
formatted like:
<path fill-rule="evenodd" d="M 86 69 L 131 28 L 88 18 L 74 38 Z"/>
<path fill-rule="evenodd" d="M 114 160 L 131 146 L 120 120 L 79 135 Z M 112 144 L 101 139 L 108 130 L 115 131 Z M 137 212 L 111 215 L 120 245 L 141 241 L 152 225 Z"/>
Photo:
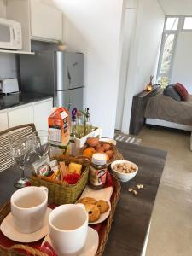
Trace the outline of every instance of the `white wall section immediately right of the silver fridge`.
<path fill-rule="evenodd" d="M 123 0 L 55 0 L 66 16 L 68 50 L 84 53 L 84 106 L 93 125 L 113 137 L 119 79 Z"/>

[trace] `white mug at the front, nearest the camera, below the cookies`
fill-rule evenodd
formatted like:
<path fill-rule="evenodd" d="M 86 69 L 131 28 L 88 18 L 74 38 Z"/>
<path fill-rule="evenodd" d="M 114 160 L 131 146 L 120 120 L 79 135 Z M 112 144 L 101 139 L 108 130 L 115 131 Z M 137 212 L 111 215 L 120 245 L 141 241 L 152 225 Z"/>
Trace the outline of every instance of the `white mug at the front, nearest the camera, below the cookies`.
<path fill-rule="evenodd" d="M 82 204 L 56 207 L 49 215 L 49 236 L 58 255 L 78 255 L 84 247 L 88 213 Z"/>

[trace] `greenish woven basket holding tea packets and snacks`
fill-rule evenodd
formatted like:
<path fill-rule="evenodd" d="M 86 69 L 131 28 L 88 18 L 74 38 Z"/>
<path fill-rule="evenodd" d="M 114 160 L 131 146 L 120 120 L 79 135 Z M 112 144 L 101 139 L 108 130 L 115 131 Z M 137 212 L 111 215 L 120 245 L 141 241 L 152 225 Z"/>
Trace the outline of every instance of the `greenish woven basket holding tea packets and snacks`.
<path fill-rule="evenodd" d="M 83 172 L 79 178 L 78 183 L 69 185 L 67 183 L 53 183 L 44 180 L 41 177 L 33 174 L 31 177 L 31 183 L 33 186 L 45 186 L 49 189 L 49 203 L 54 203 L 56 205 L 74 203 L 79 198 L 79 195 L 84 190 L 88 182 L 89 170 L 90 170 L 90 160 L 84 157 L 67 157 L 66 155 L 55 155 L 54 159 L 58 161 L 65 161 L 65 163 L 75 162 L 83 165 Z"/>

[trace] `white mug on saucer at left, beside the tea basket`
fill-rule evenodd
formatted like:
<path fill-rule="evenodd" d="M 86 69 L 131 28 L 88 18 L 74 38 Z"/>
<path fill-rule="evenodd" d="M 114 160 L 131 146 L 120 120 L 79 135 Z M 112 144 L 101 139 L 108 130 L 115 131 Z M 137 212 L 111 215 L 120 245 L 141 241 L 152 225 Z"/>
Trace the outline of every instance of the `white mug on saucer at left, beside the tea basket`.
<path fill-rule="evenodd" d="M 10 199 L 15 229 L 26 234 L 39 230 L 44 223 L 47 202 L 45 187 L 29 186 L 15 191 Z"/>

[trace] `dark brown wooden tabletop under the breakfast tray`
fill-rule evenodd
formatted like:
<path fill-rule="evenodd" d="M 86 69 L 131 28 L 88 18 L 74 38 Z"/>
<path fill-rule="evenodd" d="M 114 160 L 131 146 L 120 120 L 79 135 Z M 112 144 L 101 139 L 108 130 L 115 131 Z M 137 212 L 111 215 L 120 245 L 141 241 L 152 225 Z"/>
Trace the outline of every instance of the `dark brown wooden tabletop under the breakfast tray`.
<path fill-rule="evenodd" d="M 148 230 L 155 196 L 166 161 L 166 152 L 130 143 L 118 143 L 125 160 L 137 164 L 137 176 L 129 183 L 121 183 L 121 195 L 108 236 L 104 256 L 141 255 Z M 20 177 L 18 169 L 10 168 L 0 173 L 0 204 L 8 201 L 15 191 L 14 180 Z M 132 195 L 128 188 L 142 183 L 145 189 Z"/>

